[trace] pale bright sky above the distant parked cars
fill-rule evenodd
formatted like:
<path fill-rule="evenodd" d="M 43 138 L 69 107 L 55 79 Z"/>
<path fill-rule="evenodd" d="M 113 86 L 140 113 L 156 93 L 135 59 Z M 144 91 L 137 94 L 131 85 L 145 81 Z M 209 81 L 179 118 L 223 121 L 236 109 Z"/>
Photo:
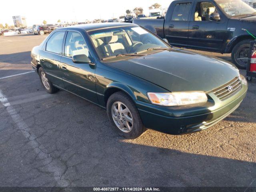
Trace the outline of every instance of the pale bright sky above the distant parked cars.
<path fill-rule="evenodd" d="M 86 19 L 110 19 L 125 14 L 127 9 L 148 7 L 159 3 L 168 8 L 172 0 L 1 0 L 0 24 L 14 25 L 12 16 L 25 16 L 28 26 L 61 22 L 84 22 Z"/>

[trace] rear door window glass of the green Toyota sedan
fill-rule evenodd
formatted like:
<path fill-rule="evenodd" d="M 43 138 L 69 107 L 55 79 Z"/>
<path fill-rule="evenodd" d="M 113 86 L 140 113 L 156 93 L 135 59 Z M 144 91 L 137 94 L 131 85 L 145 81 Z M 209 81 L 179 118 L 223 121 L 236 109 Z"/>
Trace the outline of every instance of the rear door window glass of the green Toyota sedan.
<path fill-rule="evenodd" d="M 46 43 L 46 51 L 61 54 L 64 34 L 64 31 L 55 32 Z"/>

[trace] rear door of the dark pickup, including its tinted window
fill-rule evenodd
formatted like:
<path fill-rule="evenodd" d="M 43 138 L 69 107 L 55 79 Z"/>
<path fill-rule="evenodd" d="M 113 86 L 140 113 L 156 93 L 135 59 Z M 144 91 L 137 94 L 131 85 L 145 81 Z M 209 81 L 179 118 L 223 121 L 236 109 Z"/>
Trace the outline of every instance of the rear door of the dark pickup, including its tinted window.
<path fill-rule="evenodd" d="M 186 46 L 188 40 L 188 25 L 192 2 L 177 2 L 169 10 L 164 24 L 164 34 L 169 43 L 176 46 Z"/>

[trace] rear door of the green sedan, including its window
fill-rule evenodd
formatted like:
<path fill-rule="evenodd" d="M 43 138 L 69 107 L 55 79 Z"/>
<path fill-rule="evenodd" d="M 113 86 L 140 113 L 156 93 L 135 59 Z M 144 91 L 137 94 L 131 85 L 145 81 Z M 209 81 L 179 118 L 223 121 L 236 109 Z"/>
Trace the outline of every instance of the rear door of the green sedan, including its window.
<path fill-rule="evenodd" d="M 44 68 L 47 77 L 53 84 L 60 88 L 64 88 L 62 71 L 60 70 L 64 35 L 65 31 L 54 32 L 46 42 L 44 50 L 40 53 L 40 63 Z"/>

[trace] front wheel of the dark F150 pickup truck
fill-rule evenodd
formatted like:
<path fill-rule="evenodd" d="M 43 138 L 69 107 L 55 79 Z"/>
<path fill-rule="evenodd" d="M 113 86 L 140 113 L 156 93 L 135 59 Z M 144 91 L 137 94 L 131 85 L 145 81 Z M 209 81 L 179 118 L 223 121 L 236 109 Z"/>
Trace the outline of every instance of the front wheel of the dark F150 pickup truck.
<path fill-rule="evenodd" d="M 232 62 L 240 69 L 246 69 L 251 40 L 240 41 L 234 46 L 231 54 Z"/>

